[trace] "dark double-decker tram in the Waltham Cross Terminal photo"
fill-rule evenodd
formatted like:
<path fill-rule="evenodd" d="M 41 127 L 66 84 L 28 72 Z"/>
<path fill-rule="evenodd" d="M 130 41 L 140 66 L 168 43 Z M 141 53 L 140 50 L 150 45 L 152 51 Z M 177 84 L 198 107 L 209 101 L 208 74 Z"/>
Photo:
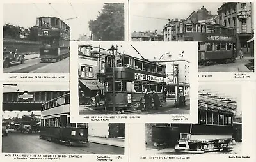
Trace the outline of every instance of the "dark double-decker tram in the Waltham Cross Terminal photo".
<path fill-rule="evenodd" d="M 42 42 L 42 61 L 60 61 L 69 56 L 70 27 L 57 17 L 37 18 L 38 36 Z"/>

